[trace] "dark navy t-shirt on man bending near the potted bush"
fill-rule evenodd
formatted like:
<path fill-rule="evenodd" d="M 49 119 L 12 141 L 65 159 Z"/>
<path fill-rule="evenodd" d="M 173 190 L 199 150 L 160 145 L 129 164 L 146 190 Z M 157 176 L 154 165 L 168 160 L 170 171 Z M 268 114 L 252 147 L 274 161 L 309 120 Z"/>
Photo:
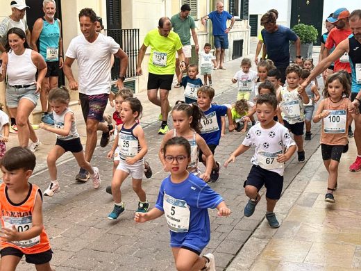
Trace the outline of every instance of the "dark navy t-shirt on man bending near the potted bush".
<path fill-rule="evenodd" d="M 265 28 L 261 35 L 266 44 L 267 56 L 278 68 L 285 68 L 289 65 L 289 41 L 296 41 L 299 38 L 294 31 L 286 26 L 278 25 L 274 33 L 269 33 Z"/>

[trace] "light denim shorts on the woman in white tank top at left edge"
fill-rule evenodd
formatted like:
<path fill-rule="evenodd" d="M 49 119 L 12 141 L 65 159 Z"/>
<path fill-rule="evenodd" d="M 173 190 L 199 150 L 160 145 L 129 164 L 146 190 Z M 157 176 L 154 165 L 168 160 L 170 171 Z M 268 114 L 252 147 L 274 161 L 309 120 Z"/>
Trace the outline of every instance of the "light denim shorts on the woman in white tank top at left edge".
<path fill-rule="evenodd" d="M 28 88 L 15 88 L 11 85 L 6 85 L 6 106 L 8 108 L 17 108 L 21 99 L 28 99 L 35 106 L 40 94 L 35 93 L 36 85 L 30 85 Z"/>

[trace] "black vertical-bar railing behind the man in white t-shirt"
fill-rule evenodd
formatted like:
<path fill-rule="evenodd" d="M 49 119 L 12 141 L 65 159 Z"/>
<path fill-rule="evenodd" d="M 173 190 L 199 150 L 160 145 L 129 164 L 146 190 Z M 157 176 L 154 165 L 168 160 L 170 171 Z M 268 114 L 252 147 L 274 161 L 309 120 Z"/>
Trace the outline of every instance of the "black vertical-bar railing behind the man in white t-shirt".
<path fill-rule="evenodd" d="M 136 76 L 137 56 L 140 49 L 139 29 L 108 29 L 107 35 L 112 37 L 121 49 L 128 55 L 128 69 L 126 70 L 126 77 Z M 112 80 L 117 80 L 119 76 L 119 58 L 115 58 L 112 67 Z"/>

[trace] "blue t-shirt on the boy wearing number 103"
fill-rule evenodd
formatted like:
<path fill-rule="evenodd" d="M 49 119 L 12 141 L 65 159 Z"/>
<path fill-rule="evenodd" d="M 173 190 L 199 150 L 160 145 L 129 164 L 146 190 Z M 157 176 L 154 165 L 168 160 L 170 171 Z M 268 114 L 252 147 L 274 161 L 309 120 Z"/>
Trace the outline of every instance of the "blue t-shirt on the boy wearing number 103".
<path fill-rule="evenodd" d="M 212 104 L 208 110 L 203 112 L 205 118 L 201 119 L 201 137 L 207 145 L 219 145 L 219 140 L 221 139 L 221 117 L 226 115 L 227 109 L 227 106 Z"/>

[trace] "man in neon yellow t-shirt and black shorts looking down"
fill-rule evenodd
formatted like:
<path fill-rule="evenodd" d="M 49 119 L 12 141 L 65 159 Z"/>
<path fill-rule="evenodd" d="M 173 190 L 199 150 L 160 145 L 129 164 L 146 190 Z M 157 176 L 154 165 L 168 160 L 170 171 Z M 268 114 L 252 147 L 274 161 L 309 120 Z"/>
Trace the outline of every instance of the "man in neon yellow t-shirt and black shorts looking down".
<path fill-rule="evenodd" d="M 168 17 L 159 19 L 158 28 L 149 31 L 140 47 L 137 60 L 137 74 L 142 75 L 142 61 L 146 48 L 151 47 L 148 63 L 148 99 L 156 106 L 160 106 L 159 119 L 162 125 L 158 133 L 165 135 L 168 131 L 169 101 L 168 95 L 176 67 L 176 52 L 179 56 L 180 69 L 185 69 L 185 57 L 182 42 L 177 33 L 171 31 L 171 21 Z M 159 98 L 158 98 L 159 90 Z"/>

